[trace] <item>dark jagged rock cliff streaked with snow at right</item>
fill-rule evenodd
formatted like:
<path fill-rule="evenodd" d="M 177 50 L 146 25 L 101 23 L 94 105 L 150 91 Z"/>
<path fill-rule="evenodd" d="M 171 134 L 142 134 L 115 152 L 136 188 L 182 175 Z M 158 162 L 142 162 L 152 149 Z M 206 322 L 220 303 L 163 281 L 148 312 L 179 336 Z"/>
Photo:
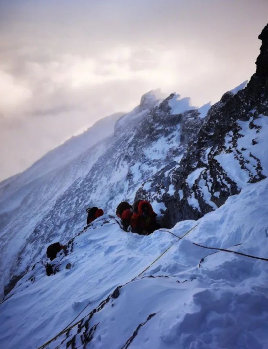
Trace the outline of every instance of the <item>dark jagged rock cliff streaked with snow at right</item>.
<path fill-rule="evenodd" d="M 256 73 L 246 88 L 235 95 L 227 92 L 211 107 L 181 161 L 152 178 L 156 195 L 151 187 L 146 190 L 147 184 L 137 192 L 136 198 L 165 203 L 169 227 L 200 218 L 247 183 L 268 175 L 268 153 L 262 145 L 268 130 L 268 25 L 259 39 Z"/>

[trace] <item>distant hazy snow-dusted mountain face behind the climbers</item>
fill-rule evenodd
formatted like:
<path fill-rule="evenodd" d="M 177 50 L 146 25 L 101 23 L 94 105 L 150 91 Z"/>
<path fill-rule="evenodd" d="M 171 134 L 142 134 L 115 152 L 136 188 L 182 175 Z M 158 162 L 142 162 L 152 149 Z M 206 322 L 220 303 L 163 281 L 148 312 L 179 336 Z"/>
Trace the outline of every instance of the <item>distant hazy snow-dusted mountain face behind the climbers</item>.
<path fill-rule="evenodd" d="M 38 260 L 48 243 L 73 237 L 84 225 L 86 207 L 97 205 L 114 213 L 120 201 L 134 200 L 143 181 L 181 157 L 202 120 L 198 110 L 172 114 L 169 98 L 161 102 L 159 92 L 149 92 L 139 106 L 116 122 L 113 136 L 40 178 L 33 180 L 29 169 L 29 173 L 14 179 L 15 187 L 19 187 L 17 182 L 27 184 L 2 203 L 2 207 L 10 209 L 14 203 L 17 205 L 13 212 L 2 214 L 2 283 Z M 195 120 L 194 127 L 187 133 L 186 125 L 191 120 Z M 60 150 L 65 152 L 84 144 L 81 137 L 87 136 L 71 139 L 71 146 L 67 142 L 33 165 L 33 169 L 40 173 L 40 169 L 53 167 Z M 11 184 L 5 190 L 13 190 Z M 164 206 L 157 206 L 157 212 L 164 212 Z"/>

